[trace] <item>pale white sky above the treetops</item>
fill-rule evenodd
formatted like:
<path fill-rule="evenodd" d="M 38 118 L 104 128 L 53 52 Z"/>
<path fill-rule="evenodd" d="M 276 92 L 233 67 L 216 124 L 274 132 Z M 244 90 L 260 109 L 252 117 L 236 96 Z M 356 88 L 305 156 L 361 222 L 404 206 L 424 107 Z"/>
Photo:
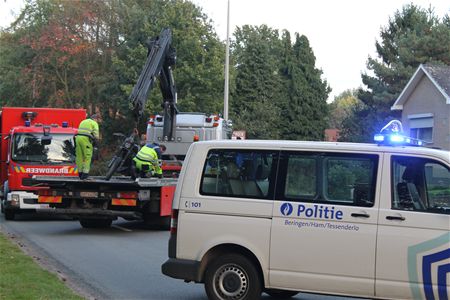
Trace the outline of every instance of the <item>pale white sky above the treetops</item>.
<path fill-rule="evenodd" d="M 230 37 L 237 26 L 265 24 L 305 35 L 332 92 L 329 101 L 347 89 L 362 85 L 369 56 L 376 57 L 375 42 L 382 27 L 397 10 L 413 3 L 434 8 L 442 18 L 450 14 L 448 0 L 192 0 L 211 19 L 220 39 L 227 37 L 230 2 Z M 0 0 L 0 27 L 17 15 L 21 0 Z"/>

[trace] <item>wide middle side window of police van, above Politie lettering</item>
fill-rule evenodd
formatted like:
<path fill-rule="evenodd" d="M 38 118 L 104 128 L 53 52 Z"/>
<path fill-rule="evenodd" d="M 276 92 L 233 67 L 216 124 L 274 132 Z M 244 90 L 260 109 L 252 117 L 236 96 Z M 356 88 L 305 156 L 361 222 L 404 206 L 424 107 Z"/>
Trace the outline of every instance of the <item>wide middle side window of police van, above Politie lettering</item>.
<path fill-rule="evenodd" d="M 377 155 L 284 152 L 281 157 L 277 187 L 284 189 L 277 189 L 277 198 L 373 206 Z"/>

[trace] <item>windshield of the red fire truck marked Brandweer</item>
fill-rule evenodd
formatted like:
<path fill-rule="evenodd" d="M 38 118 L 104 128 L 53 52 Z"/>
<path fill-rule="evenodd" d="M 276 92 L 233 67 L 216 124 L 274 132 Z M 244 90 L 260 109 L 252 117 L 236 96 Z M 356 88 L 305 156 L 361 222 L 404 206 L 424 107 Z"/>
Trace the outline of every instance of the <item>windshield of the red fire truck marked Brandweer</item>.
<path fill-rule="evenodd" d="M 42 133 L 15 134 L 12 143 L 12 160 L 46 165 L 75 162 L 73 135 L 52 134 L 50 143 L 43 143 L 42 136 Z"/>

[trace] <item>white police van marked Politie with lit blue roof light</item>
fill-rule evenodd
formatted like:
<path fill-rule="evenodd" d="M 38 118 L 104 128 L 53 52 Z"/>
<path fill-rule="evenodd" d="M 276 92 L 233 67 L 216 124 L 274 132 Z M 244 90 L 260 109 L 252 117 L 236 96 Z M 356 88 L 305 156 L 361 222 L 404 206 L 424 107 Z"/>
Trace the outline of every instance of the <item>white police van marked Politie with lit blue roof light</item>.
<path fill-rule="evenodd" d="M 162 272 L 204 283 L 210 299 L 449 299 L 449 230 L 448 151 L 199 142 L 175 192 Z"/>

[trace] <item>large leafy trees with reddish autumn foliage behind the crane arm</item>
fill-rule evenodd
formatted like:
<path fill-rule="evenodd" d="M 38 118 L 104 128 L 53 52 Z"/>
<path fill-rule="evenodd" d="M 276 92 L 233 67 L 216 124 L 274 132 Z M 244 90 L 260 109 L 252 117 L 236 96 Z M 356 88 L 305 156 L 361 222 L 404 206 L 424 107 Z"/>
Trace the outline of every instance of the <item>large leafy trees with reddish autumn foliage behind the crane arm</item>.
<path fill-rule="evenodd" d="M 224 46 L 206 15 L 182 0 L 28 0 L 0 35 L 0 99 L 100 111 L 109 142 L 112 132 L 134 126 L 127 98 L 148 38 L 164 27 L 172 29 L 177 50 L 180 110 L 220 112 Z M 148 109 L 159 112 L 157 85 L 150 94 Z"/>

